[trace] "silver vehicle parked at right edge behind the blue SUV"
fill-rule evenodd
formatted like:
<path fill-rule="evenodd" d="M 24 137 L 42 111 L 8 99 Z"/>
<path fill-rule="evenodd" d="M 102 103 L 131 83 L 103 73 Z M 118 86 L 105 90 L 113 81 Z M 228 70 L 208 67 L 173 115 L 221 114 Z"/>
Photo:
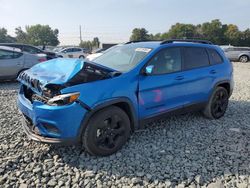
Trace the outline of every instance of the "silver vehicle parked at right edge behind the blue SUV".
<path fill-rule="evenodd" d="M 250 61 L 250 48 L 248 47 L 229 46 L 222 49 L 230 61 L 240 61 L 242 63 Z"/>

